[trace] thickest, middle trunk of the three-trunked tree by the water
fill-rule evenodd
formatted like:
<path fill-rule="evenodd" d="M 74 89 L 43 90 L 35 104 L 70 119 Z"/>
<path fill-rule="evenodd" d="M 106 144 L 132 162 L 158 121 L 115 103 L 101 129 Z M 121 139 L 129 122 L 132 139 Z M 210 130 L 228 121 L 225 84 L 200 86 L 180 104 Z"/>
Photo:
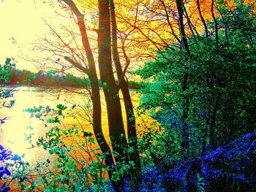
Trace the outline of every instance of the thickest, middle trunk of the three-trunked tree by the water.
<path fill-rule="evenodd" d="M 128 164 L 127 139 L 125 137 L 124 122 L 121 112 L 121 103 L 118 96 L 118 88 L 113 75 L 110 44 L 110 9 L 108 0 L 99 0 L 99 74 L 103 85 L 105 101 L 108 112 L 108 127 L 110 141 L 115 155 L 116 163 L 124 161 Z M 117 187 L 122 187 L 122 181 Z"/>

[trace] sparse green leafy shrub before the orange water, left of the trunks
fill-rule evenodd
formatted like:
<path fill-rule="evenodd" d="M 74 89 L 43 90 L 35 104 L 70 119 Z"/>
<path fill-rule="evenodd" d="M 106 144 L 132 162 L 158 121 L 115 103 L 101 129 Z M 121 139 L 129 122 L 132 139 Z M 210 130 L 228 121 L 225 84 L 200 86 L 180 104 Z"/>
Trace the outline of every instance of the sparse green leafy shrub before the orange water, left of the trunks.
<path fill-rule="evenodd" d="M 134 166 L 132 161 L 106 166 L 107 154 L 97 147 L 91 131 L 79 121 L 72 126 L 64 125 L 68 118 L 76 119 L 79 108 L 58 104 L 56 108 L 39 106 L 26 110 L 31 117 L 45 123 L 45 136 L 39 137 L 36 142 L 33 142 L 32 134 L 26 137 L 32 147 L 42 147 L 50 155 L 47 161 L 34 169 L 34 172 L 44 172 L 37 181 L 34 180 L 39 188 L 43 185 L 43 191 L 111 191 L 110 181 L 106 179 L 107 171 L 112 169 L 113 180 L 119 182 Z M 33 128 L 30 126 L 29 130 L 32 133 Z M 118 155 L 116 151 L 112 153 Z M 29 191 L 27 181 L 20 185 Z"/>

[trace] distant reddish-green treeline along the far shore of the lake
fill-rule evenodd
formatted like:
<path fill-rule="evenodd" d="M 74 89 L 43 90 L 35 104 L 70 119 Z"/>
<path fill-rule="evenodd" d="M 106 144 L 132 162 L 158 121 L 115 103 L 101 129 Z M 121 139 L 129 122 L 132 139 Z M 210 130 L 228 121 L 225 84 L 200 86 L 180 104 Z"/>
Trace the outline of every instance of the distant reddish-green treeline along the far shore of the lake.
<path fill-rule="evenodd" d="M 28 70 L 20 70 L 12 67 L 8 74 L 9 82 L 1 82 L 1 84 L 8 85 L 35 85 L 35 86 L 61 86 L 61 87 L 72 87 L 82 88 L 89 87 L 90 82 L 88 78 L 77 77 L 73 74 L 58 74 L 53 71 L 43 72 L 30 72 Z M 101 83 L 99 82 L 101 86 Z M 129 88 L 138 89 L 140 88 L 139 82 L 129 82 Z"/>

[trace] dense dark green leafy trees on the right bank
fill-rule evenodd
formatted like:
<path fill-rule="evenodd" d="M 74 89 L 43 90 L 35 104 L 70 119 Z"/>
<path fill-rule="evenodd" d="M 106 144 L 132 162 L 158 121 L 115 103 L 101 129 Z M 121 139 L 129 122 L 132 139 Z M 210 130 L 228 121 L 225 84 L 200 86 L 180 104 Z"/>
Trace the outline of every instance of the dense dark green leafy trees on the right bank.
<path fill-rule="evenodd" d="M 165 131 L 156 139 L 159 148 L 176 141 L 176 150 L 159 153 L 176 157 L 183 123 L 189 125 L 191 157 L 203 153 L 207 145 L 218 146 L 255 131 L 256 126 L 256 51 L 255 16 L 252 5 L 237 3 L 229 10 L 218 7 L 219 42 L 213 31 L 210 37 L 189 39 L 190 53 L 172 49 L 158 53 L 137 74 L 147 80 L 141 89 L 140 107 L 151 110 Z M 188 73 L 187 88 L 184 77 Z M 182 121 L 184 104 L 189 101 L 189 114 Z M 156 144 L 155 144 L 156 145 Z M 170 147 L 172 148 L 172 147 Z M 159 151 L 159 150 L 157 150 Z M 161 150 L 160 150 L 161 151 Z M 158 153 L 155 153 L 155 155 Z M 161 159 L 161 158 L 159 158 Z M 161 160 L 165 161 L 165 160 Z"/>

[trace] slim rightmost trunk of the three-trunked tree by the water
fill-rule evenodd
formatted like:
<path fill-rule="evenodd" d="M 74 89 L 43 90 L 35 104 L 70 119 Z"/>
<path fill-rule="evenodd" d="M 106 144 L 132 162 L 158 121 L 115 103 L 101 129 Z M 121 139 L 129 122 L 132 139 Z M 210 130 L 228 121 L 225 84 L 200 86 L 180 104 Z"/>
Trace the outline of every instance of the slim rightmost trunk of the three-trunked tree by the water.
<path fill-rule="evenodd" d="M 129 154 L 129 161 L 135 162 L 135 167 L 133 167 L 133 174 L 138 174 L 140 172 L 140 155 L 138 152 L 138 140 L 136 134 L 136 123 L 135 115 L 132 107 L 132 100 L 129 94 L 128 82 L 124 80 L 124 72 L 121 69 L 121 61 L 118 54 L 117 45 L 117 27 L 116 27 L 116 14 L 115 5 L 113 0 L 110 0 L 110 20 L 111 20 L 111 40 L 112 40 L 112 54 L 113 61 L 116 67 L 116 73 L 119 81 L 119 86 L 124 97 L 124 107 L 127 115 L 127 132 L 129 147 L 132 147 L 132 153 Z M 129 63 L 127 63 L 129 64 Z"/>

